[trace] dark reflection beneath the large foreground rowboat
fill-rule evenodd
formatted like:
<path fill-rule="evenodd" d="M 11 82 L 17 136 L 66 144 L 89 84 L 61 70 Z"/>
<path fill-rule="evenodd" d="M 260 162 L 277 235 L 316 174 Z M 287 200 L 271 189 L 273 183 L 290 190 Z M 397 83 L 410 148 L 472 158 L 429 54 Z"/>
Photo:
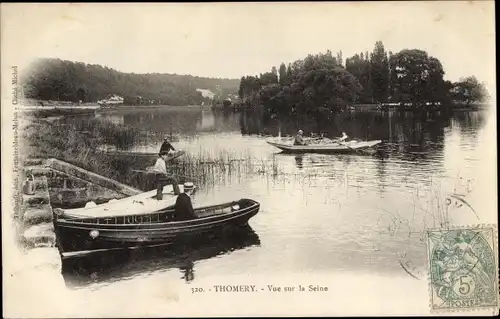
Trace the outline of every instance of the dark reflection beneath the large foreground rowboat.
<path fill-rule="evenodd" d="M 250 226 L 231 228 L 189 243 L 63 260 L 62 275 L 68 287 L 79 288 L 177 268 L 181 278 L 190 282 L 196 277 L 197 262 L 259 245 L 259 236 Z"/>

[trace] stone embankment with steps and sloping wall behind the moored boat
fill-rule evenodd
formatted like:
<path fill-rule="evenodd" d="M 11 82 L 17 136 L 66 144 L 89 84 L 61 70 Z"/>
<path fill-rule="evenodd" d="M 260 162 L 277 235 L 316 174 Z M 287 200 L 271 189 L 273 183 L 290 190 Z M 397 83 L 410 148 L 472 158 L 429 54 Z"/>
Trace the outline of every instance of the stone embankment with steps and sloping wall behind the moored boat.
<path fill-rule="evenodd" d="M 140 193 L 96 173 L 57 159 L 26 159 L 20 211 L 16 212 L 19 240 L 26 247 L 54 247 L 52 209 L 78 207 Z"/>

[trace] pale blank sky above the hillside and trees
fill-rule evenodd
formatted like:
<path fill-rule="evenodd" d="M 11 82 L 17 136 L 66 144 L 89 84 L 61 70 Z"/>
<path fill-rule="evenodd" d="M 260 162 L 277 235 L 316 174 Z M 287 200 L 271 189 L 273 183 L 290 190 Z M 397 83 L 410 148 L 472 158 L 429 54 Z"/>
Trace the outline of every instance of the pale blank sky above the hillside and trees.
<path fill-rule="evenodd" d="M 2 53 L 241 78 L 309 53 L 422 49 L 494 85 L 494 2 L 2 4 Z"/>

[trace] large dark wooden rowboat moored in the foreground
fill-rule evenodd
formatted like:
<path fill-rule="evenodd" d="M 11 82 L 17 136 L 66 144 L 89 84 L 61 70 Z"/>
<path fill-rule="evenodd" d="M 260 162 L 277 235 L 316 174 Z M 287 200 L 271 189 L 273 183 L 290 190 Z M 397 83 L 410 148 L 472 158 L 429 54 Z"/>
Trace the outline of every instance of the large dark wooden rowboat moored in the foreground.
<path fill-rule="evenodd" d="M 62 258 L 69 258 L 89 252 L 176 243 L 228 226 L 244 226 L 259 209 L 258 202 L 240 199 L 195 208 L 197 218 L 187 221 L 174 219 L 173 205 L 146 214 L 99 217 L 76 217 L 54 209 L 53 223 L 59 252 Z"/>

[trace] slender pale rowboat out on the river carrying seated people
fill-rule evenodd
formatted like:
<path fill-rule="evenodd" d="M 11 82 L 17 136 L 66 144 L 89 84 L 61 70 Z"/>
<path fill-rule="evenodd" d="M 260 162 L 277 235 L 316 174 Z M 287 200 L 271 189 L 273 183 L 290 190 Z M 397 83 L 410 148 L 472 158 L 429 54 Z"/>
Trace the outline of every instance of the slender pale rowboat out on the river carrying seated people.
<path fill-rule="evenodd" d="M 286 153 L 355 153 L 382 143 L 374 141 L 332 142 L 327 144 L 293 145 L 291 143 L 277 143 L 267 141 L 268 144 L 279 148 Z"/>

